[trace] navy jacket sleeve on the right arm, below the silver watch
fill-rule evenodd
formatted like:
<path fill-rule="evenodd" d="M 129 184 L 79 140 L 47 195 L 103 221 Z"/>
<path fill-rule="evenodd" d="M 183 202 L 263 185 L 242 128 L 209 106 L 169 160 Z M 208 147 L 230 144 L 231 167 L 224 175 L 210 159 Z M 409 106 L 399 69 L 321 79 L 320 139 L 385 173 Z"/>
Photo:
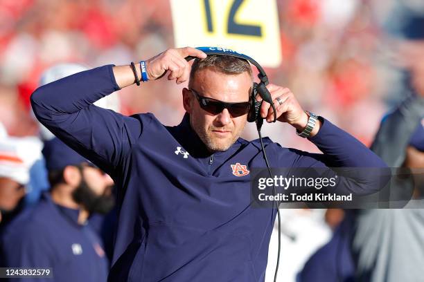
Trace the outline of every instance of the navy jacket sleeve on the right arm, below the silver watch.
<path fill-rule="evenodd" d="M 291 167 L 318 168 L 320 177 L 337 178 L 334 189 L 325 189 L 337 194 L 366 195 L 379 191 L 390 179 L 390 170 L 375 153 L 352 135 L 320 118 L 321 129 L 310 141 L 322 152 L 308 153 L 290 149 L 296 158 Z M 285 158 L 279 155 L 279 163 Z M 315 171 L 315 172 L 316 172 Z"/>

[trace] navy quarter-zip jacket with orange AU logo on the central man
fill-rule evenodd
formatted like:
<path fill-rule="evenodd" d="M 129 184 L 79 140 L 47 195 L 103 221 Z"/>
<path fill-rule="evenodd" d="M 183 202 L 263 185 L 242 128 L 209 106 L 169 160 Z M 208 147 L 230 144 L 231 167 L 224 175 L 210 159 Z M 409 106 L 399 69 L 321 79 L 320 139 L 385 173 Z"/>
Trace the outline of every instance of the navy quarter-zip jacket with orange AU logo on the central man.
<path fill-rule="evenodd" d="M 231 169 L 237 163 L 245 171 L 265 167 L 258 140 L 239 138 L 211 155 L 187 114 L 178 126 L 164 126 L 151 113 L 128 117 L 94 106 L 119 90 L 112 67 L 65 77 L 31 96 L 38 120 L 118 186 L 109 281 L 264 281 L 276 209 L 252 208 L 249 174 Z M 310 141 L 324 154 L 264 138 L 270 165 L 386 167 L 351 135 L 322 121 Z M 380 176 L 353 173 L 339 182 L 355 194 L 382 188 Z"/>

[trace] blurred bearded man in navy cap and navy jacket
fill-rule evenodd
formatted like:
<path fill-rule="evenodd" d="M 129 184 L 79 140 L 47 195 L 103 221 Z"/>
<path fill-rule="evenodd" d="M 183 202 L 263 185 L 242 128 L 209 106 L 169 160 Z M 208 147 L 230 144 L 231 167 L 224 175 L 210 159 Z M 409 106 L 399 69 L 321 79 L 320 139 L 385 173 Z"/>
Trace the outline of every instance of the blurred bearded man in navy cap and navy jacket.
<path fill-rule="evenodd" d="M 50 191 L 4 230 L 1 266 L 51 267 L 53 280 L 45 281 L 106 281 L 107 258 L 88 218 L 112 209 L 113 181 L 58 138 L 42 152 Z"/>

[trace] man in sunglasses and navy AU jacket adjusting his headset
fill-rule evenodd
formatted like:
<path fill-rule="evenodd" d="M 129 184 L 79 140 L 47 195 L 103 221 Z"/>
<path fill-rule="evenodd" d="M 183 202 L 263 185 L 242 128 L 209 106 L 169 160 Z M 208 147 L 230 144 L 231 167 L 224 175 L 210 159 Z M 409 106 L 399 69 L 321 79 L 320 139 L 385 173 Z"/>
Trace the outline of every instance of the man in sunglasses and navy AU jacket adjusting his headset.
<path fill-rule="evenodd" d="M 192 68 L 187 56 L 198 58 Z M 186 115 L 178 126 L 164 126 L 150 113 L 127 117 L 93 105 L 134 84 L 131 66 L 77 73 L 38 88 L 31 97 L 38 120 L 118 186 L 109 281 L 264 281 L 276 209 L 251 207 L 249 168 L 265 167 L 265 161 L 258 140 L 239 138 L 247 120 L 243 103 L 253 83 L 249 63 L 178 48 L 148 59 L 145 66 L 149 80 L 166 72 L 177 84 L 190 78 L 182 93 Z M 142 77 L 139 66 L 135 71 Z M 291 91 L 273 84 L 267 88 L 278 120 L 303 131 L 310 116 Z M 270 122 L 270 104 L 263 103 L 260 114 Z M 324 154 L 286 149 L 264 138 L 270 165 L 385 167 L 324 118 L 308 138 Z M 380 176 L 339 177 L 339 186 L 355 194 L 381 185 Z"/>

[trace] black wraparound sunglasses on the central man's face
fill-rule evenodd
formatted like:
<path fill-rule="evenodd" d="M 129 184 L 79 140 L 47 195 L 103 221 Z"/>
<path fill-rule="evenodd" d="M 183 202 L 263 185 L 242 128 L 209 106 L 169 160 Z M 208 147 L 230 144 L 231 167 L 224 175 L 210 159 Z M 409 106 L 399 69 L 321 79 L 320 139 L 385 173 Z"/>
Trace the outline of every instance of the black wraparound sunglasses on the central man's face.
<path fill-rule="evenodd" d="M 240 117 L 240 115 L 248 113 L 250 109 L 250 102 L 222 102 L 213 98 L 204 97 L 193 89 L 190 89 L 190 91 L 196 97 L 197 101 L 199 101 L 200 108 L 213 115 L 218 115 L 222 113 L 224 109 L 227 109 L 233 118 L 237 118 Z"/>

